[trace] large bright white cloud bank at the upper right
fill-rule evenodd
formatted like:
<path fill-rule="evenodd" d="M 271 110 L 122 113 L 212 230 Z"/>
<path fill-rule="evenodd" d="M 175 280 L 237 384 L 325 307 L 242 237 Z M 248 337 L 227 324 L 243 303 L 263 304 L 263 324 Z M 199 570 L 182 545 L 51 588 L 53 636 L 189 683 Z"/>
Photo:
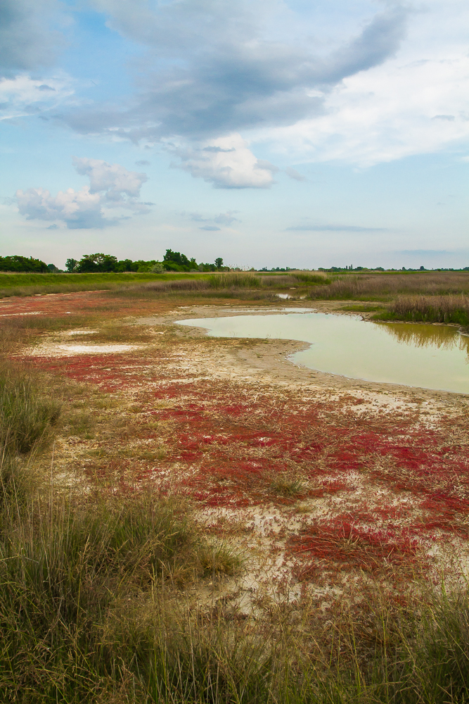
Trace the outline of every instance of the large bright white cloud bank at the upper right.
<path fill-rule="evenodd" d="M 297 163 L 360 167 L 467 145 L 469 56 L 461 27 L 468 26 L 459 0 L 429 2 L 413 16 L 395 58 L 345 78 L 324 96 L 321 115 L 252 132 L 251 142 L 269 142 Z"/>

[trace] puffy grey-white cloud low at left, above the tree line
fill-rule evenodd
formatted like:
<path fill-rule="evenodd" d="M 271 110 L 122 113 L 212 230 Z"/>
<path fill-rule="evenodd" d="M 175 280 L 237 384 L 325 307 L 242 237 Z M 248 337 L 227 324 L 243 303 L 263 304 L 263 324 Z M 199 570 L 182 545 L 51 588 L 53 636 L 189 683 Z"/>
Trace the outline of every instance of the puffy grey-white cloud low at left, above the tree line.
<path fill-rule="evenodd" d="M 69 188 L 52 196 L 44 188 L 16 191 L 18 210 L 27 220 L 58 220 L 65 222 L 70 230 L 115 225 L 122 217 L 108 217 L 105 210 L 125 208 L 134 213 L 148 213 L 141 203 L 141 185 L 146 174 L 128 171 L 120 164 L 74 157 L 75 168 L 80 175 L 89 177 L 90 185 L 79 191 Z"/>

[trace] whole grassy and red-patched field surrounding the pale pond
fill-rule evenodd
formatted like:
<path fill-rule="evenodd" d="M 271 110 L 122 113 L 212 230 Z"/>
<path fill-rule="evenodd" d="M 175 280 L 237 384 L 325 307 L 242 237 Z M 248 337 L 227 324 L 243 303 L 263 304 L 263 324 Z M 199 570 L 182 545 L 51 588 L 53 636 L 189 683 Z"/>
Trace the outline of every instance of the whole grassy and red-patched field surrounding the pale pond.
<path fill-rule="evenodd" d="M 1 700 L 468 700 L 468 398 L 174 325 L 279 291 L 437 310 L 466 295 L 454 276 L 342 298 L 300 274 L 5 298 Z"/>

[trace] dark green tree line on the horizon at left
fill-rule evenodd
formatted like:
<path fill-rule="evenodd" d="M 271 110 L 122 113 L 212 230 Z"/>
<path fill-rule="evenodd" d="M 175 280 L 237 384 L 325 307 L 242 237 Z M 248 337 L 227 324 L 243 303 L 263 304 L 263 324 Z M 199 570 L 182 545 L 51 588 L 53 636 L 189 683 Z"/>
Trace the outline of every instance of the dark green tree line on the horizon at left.
<path fill-rule="evenodd" d="M 55 264 L 46 264 L 40 259 L 23 256 L 0 257 L 0 271 L 7 272 L 30 272 L 30 273 L 68 273 L 68 274 L 88 274 L 107 272 L 153 272 L 164 273 L 174 272 L 196 272 L 196 271 L 229 271 L 229 267 L 223 265 L 223 259 L 218 257 L 213 264 L 197 263 L 194 258 L 189 259 L 181 252 L 174 252 L 167 249 L 162 261 L 117 259 L 112 254 L 96 253 L 84 254 L 81 259 L 70 258 L 65 264 L 66 270 L 59 269 Z"/>

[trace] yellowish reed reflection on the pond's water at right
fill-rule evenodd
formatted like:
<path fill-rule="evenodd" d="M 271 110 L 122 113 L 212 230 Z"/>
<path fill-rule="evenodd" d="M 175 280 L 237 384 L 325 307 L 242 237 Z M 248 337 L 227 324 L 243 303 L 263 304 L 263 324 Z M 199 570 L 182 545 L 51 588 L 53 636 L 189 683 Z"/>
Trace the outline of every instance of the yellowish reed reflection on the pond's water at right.
<path fill-rule="evenodd" d="M 385 329 L 397 342 L 413 347 L 434 347 L 442 350 L 461 350 L 469 363 L 469 337 L 460 335 L 456 327 L 448 325 L 420 325 L 404 322 L 375 323 Z"/>

